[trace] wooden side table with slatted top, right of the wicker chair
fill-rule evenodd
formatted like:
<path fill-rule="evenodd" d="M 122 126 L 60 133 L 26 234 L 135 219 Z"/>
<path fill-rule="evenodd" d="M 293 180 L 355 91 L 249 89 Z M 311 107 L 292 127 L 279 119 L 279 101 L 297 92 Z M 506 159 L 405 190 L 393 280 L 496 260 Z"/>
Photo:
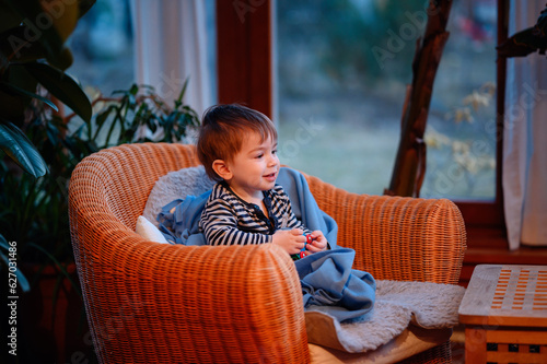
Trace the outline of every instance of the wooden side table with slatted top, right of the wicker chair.
<path fill-rule="evenodd" d="M 475 267 L 459 305 L 465 363 L 547 363 L 547 266 Z"/>

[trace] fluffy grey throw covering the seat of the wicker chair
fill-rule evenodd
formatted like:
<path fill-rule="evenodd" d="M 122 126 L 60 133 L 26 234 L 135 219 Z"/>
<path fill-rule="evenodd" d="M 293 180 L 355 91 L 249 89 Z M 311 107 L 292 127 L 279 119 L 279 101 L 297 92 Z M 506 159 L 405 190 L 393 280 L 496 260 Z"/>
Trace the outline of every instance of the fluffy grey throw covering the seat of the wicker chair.
<path fill-rule="evenodd" d="M 464 293 L 458 285 L 376 280 L 374 309 L 356 321 L 340 324 L 326 313 L 307 310 L 307 341 L 362 353 L 389 342 L 408 325 L 427 329 L 454 327 Z"/>

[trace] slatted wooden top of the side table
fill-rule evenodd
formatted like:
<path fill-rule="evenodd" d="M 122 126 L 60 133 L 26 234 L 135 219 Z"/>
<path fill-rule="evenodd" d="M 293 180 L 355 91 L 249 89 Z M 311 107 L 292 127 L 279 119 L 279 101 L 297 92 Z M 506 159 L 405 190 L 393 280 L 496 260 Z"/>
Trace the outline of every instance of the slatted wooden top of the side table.
<path fill-rule="evenodd" d="M 547 266 L 477 266 L 458 313 L 466 325 L 547 329 Z"/>

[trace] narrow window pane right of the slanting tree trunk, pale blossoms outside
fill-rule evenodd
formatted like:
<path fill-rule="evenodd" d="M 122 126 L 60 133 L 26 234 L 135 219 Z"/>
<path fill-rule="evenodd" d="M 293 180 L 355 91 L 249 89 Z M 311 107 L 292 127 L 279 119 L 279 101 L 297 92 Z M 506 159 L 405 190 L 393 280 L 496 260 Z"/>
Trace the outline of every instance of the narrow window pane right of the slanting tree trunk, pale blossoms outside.
<path fill-rule="evenodd" d="M 496 197 L 497 1 L 454 1 L 426 140 L 423 197 Z"/>

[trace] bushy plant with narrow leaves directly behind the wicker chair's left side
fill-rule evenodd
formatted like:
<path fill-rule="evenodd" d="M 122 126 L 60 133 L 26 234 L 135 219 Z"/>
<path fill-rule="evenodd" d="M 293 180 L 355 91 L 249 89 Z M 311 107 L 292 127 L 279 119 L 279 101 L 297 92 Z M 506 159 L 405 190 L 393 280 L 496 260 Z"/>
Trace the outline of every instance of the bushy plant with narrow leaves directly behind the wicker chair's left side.
<path fill-rule="evenodd" d="M 159 97 L 150 86 L 133 84 L 108 97 L 95 93 L 91 97 L 94 113 L 89 121 L 77 114 L 53 113 L 36 102 L 26 110 L 27 115 L 34 115 L 27 122 L 26 136 L 43 156 L 49 173 L 34 178 L 30 174 L 10 173 L 5 165 L 0 167 L 0 211 L 3 211 L 0 231 L 8 240 L 16 238 L 21 263 L 43 262 L 34 266 L 35 272 L 51 279 L 49 283 L 40 281 L 42 285 L 31 284 L 36 289 L 27 295 L 30 301 L 36 301 L 47 294 L 46 300 L 50 302 L 51 314 L 35 320 L 42 320 L 43 326 L 65 334 L 71 330 L 73 334 L 68 338 L 78 339 L 73 345 L 54 345 L 56 353 L 49 354 L 57 355 L 57 359 L 65 355 L 61 360 L 69 360 L 67 355 L 74 352 L 89 359 L 93 349 L 86 326 L 82 325 L 85 320 L 70 240 L 70 175 L 79 161 L 104 148 L 184 140 L 188 131 L 199 125 L 197 113 L 183 103 L 186 85 L 173 105 Z M 32 281 L 35 274 L 27 275 Z M 69 313 L 68 305 L 75 305 L 77 312 Z M 62 320 L 65 312 L 70 318 Z M 45 345 L 43 350 L 51 347 Z"/>

